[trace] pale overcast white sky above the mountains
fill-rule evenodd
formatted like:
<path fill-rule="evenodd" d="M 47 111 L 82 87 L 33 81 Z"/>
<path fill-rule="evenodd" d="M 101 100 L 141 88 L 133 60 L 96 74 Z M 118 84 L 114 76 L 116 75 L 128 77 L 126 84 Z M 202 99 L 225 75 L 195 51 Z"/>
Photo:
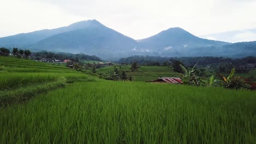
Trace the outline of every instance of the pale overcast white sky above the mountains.
<path fill-rule="evenodd" d="M 256 0 L 0 0 L 0 5 L 0 37 L 88 19 L 134 39 L 170 27 L 197 36 L 256 27 Z M 240 40 L 255 37 L 248 34 Z"/>

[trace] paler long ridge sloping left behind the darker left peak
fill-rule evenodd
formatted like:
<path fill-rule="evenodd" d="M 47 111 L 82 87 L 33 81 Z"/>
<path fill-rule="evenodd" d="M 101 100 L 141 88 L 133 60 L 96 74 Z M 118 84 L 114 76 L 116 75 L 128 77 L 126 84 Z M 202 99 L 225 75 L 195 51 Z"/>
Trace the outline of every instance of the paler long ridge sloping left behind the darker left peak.
<path fill-rule="evenodd" d="M 73 31 L 75 29 L 83 29 L 86 27 L 94 27 L 99 25 L 96 20 L 80 21 L 73 23 L 72 25 L 66 27 L 60 27 L 55 29 L 43 29 L 40 31 L 34 31 L 30 33 L 20 33 L 16 35 L 11 35 L 8 37 L 0 38 L 1 46 L 28 46 L 37 43 L 40 40 L 50 37 L 51 35 L 60 34 L 63 32 Z"/>

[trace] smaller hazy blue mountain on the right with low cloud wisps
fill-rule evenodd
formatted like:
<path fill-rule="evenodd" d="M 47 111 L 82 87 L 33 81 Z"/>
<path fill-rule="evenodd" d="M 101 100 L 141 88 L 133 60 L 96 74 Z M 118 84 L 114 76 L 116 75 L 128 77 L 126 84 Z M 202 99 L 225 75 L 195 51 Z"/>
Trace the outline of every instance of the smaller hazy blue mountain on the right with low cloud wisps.
<path fill-rule="evenodd" d="M 169 28 L 152 37 L 138 40 L 138 42 L 144 49 L 148 49 L 148 51 L 157 50 L 160 53 L 178 52 L 194 47 L 219 47 L 229 44 L 223 41 L 201 39 L 179 27 Z"/>

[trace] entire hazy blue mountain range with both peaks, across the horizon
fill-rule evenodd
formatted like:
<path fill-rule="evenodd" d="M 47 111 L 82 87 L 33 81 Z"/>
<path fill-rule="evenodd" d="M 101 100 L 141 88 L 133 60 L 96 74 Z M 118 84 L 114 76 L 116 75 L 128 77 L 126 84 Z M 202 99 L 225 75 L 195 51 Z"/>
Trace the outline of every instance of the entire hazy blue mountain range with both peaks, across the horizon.
<path fill-rule="evenodd" d="M 255 43 L 237 45 L 202 39 L 179 27 L 169 28 L 146 39 L 135 40 L 102 25 L 97 20 L 80 21 L 66 27 L 3 37 L 0 38 L 0 47 L 2 46 L 86 53 L 103 59 L 118 59 L 132 55 L 166 57 L 256 55 Z"/>

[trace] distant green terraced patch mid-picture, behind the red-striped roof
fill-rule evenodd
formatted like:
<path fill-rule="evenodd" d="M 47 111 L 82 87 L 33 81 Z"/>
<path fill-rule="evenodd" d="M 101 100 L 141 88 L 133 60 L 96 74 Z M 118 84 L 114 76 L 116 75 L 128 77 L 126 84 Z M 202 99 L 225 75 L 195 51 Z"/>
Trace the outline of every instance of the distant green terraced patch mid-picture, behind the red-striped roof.
<path fill-rule="evenodd" d="M 158 66 L 142 66 L 135 73 L 131 73 L 129 66 L 111 66 L 97 69 L 98 73 L 109 74 L 113 73 L 114 68 L 118 70 L 125 70 L 128 76 L 132 77 L 133 81 L 150 81 L 158 79 L 158 77 L 177 77 L 178 73 L 174 72 L 169 67 L 158 67 Z"/>

